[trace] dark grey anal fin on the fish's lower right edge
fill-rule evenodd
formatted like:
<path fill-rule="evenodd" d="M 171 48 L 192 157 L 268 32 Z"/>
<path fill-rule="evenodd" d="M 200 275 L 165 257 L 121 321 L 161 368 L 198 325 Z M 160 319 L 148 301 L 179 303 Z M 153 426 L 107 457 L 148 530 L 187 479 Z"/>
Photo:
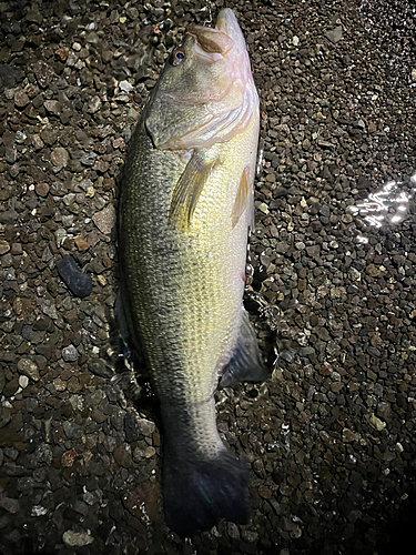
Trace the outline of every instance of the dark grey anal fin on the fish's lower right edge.
<path fill-rule="evenodd" d="M 260 355 L 257 340 L 243 309 L 243 319 L 240 327 L 237 344 L 233 356 L 225 366 L 220 380 L 221 387 L 233 387 L 240 382 L 263 382 L 268 376 Z"/>

